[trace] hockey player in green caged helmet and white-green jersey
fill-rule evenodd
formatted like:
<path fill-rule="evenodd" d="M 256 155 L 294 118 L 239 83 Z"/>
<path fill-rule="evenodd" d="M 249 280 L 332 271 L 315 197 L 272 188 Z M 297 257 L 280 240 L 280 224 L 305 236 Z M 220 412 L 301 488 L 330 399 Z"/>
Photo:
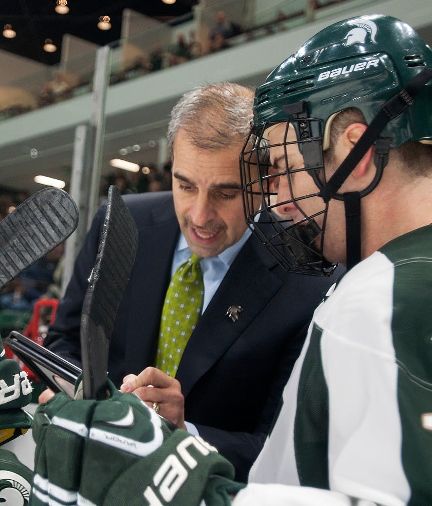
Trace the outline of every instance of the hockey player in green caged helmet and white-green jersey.
<path fill-rule="evenodd" d="M 432 503 L 431 78 L 430 48 L 376 15 L 322 30 L 256 91 L 249 223 L 291 270 L 348 272 L 236 505 Z"/>

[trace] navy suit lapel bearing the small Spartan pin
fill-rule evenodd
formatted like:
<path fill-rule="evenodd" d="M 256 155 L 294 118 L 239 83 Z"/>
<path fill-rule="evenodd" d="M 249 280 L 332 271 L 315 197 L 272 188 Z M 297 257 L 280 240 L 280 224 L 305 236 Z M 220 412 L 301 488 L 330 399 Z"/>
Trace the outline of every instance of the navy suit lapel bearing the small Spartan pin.
<path fill-rule="evenodd" d="M 264 263 L 255 244 L 256 239 L 251 237 L 243 246 L 190 336 L 176 374 L 184 396 L 239 338 L 282 284 L 265 265 L 268 261 Z M 264 249 L 261 244 L 258 246 Z M 237 321 L 226 315 L 232 305 L 243 308 Z"/>

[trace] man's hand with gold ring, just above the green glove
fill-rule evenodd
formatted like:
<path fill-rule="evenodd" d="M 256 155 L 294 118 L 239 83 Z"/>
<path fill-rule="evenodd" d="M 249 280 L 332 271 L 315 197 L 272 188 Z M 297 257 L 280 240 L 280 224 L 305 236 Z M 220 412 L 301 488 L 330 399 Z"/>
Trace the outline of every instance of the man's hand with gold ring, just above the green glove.
<path fill-rule="evenodd" d="M 150 408 L 158 408 L 158 413 L 181 429 L 184 424 L 184 397 L 177 379 L 155 367 L 147 367 L 138 375 L 128 374 L 123 378 L 122 392 L 137 395 Z M 154 404 L 156 403 L 156 404 Z"/>

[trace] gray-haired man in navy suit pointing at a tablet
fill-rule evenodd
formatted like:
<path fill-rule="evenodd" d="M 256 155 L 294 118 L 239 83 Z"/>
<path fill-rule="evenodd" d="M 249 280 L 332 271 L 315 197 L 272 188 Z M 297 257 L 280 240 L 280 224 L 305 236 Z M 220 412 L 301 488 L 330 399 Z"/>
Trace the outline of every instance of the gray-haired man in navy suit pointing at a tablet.
<path fill-rule="evenodd" d="M 231 83 L 185 94 L 168 129 L 173 192 L 124 197 L 139 244 L 108 367 L 110 379 L 126 391 L 133 390 L 131 378 L 147 374 L 150 379 L 135 393 L 213 444 L 243 480 L 268 433 L 313 310 L 335 281 L 286 273 L 247 229 L 238 167 L 252 100 L 252 90 Z M 104 214 L 102 205 L 45 340 L 47 348 L 77 364 L 81 309 Z M 201 316 L 176 370 L 167 375 L 153 367 L 161 314 L 170 279 L 191 254 L 199 257 L 204 279 Z"/>

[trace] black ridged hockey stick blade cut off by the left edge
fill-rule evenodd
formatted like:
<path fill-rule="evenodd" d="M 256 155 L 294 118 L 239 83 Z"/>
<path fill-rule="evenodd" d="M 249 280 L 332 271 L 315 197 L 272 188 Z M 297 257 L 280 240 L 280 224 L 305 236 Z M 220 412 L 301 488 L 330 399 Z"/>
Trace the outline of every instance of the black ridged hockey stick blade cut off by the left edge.
<path fill-rule="evenodd" d="M 0 222 L 0 289 L 63 242 L 78 224 L 78 209 L 59 188 L 27 198 Z"/>

